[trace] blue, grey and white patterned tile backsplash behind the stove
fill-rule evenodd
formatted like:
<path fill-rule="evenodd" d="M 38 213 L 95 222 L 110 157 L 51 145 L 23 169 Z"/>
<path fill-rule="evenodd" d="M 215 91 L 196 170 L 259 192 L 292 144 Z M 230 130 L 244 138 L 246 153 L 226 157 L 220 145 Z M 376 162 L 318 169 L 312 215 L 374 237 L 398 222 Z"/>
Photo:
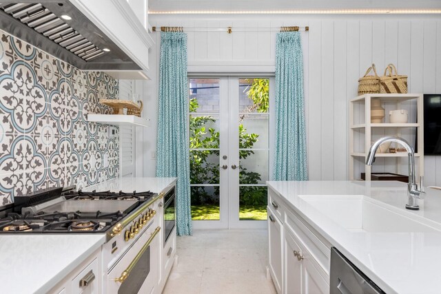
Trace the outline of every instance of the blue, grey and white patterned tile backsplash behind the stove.
<path fill-rule="evenodd" d="M 118 98 L 118 81 L 0 37 L 0 206 L 39 189 L 118 177 L 119 129 L 109 136 L 108 125 L 85 120 L 110 113 L 99 99 Z"/>

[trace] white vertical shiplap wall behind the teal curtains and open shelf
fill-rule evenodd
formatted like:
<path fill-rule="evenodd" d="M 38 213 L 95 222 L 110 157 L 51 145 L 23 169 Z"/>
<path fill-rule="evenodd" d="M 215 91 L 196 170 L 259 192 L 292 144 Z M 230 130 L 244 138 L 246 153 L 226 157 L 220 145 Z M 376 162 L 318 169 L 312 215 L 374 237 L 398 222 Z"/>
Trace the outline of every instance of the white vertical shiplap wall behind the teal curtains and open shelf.
<path fill-rule="evenodd" d="M 378 74 L 388 63 L 409 76 L 409 92 L 441 93 L 441 19 L 431 15 L 300 15 L 176 16 L 152 15 L 152 25 L 233 27 L 233 33 L 188 32 L 190 72 L 274 72 L 276 32 L 268 27 L 309 25 L 303 33 L 309 178 L 348 178 L 347 105 L 356 96 L 358 77 L 374 62 Z M 249 28 L 249 32 L 234 32 Z M 254 30 L 260 28 L 260 30 Z M 150 54 L 148 96 L 157 96 L 160 38 Z M 156 99 L 151 99 L 155 103 Z M 154 112 L 156 105 L 151 105 Z M 415 115 L 415 105 L 406 107 Z M 153 110 L 152 110 L 153 109 Z M 149 117 L 155 117 L 152 113 Z M 154 123 L 152 125 L 155 125 Z M 156 130 L 145 131 L 156 138 Z M 411 134 L 407 134 L 411 136 Z M 150 144 L 153 148 L 154 144 Z M 146 176 L 153 176 L 150 149 L 145 150 Z M 386 162 L 386 169 L 388 170 Z M 425 158 L 427 185 L 441 185 L 441 156 Z M 389 167 L 390 169 L 390 167 Z"/>

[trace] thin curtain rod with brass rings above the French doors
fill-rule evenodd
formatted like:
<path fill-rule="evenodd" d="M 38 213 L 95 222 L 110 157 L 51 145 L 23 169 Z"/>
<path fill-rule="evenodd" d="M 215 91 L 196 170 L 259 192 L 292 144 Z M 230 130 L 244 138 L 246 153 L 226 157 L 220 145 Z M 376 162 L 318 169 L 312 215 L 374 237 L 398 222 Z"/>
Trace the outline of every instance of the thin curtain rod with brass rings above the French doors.
<path fill-rule="evenodd" d="M 289 26 L 289 27 L 280 27 L 280 28 L 207 28 L 207 27 L 199 27 L 199 28 L 186 28 L 186 27 L 152 27 L 152 32 L 227 32 L 231 34 L 232 32 L 297 32 L 297 31 L 309 31 L 309 26 L 299 27 L 299 26 Z"/>

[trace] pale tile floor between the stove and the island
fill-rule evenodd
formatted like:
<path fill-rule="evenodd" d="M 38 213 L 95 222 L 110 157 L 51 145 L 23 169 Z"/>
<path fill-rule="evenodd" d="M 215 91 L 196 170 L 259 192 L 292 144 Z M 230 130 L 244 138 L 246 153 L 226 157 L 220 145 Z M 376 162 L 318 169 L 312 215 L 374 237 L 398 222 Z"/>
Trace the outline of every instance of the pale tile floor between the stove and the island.
<path fill-rule="evenodd" d="M 268 231 L 198 230 L 178 237 L 178 264 L 163 294 L 271 294 Z"/>

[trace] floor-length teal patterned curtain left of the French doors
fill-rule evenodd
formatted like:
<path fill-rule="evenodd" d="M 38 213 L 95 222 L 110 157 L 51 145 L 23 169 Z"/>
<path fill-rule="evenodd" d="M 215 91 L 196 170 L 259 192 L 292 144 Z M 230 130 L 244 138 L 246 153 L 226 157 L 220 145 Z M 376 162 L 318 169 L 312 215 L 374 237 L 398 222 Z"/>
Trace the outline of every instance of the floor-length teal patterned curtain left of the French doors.
<path fill-rule="evenodd" d="M 192 235 L 188 111 L 187 34 L 161 32 L 156 176 L 178 178 L 178 235 Z"/>

